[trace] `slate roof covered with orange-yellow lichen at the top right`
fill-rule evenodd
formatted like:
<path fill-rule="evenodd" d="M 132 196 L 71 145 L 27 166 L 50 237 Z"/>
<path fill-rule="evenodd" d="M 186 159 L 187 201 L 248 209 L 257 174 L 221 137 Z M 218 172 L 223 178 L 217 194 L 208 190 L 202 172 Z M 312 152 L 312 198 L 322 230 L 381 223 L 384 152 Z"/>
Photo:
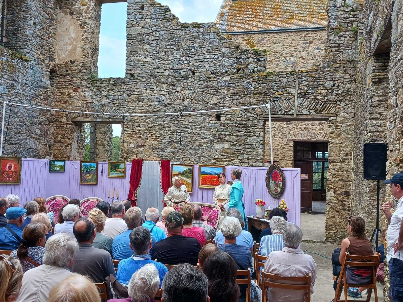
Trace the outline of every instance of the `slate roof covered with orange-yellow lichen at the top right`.
<path fill-rule="evenodd" d="M 223 0 L 216 17 L 222 32 L 325 27 L 328 0 Z"/>

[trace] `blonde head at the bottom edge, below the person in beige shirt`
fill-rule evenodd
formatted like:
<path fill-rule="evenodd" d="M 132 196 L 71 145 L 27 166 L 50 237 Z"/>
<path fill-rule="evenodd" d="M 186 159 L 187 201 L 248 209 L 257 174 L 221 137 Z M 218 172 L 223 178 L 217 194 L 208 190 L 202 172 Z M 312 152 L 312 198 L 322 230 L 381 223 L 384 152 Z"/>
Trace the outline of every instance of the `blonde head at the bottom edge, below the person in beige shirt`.
<path fill-rule="evenodd" d="M 73 274 L 52 288 L 48 302 L 101 302 L 101 297 L 88 277 Z"/>

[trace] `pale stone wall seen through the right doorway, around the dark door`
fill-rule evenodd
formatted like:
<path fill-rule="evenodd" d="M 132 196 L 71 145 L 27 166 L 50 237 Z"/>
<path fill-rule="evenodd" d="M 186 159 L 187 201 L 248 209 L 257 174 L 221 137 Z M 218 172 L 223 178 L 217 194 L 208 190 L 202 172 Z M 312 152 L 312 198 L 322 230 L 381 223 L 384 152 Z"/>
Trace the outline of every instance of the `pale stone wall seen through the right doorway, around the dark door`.
<path fill-rule="evenodd" d="M 277 122 L 272 120 L 273 160 L 294 168 L 294 141 L 328 141 L 329 121 Z M 266 120 L 264 159 L 270 162 L 269 122 Z"/>

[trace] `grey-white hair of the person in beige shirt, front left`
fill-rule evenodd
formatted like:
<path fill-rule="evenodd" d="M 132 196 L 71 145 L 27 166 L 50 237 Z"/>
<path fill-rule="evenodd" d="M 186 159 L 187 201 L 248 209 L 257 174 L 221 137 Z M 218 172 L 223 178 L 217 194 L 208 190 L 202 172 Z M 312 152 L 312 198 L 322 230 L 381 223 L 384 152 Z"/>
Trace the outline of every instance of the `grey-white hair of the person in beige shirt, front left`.
<path fill-rule="evenodd" d="M 44 264 L 67 267 L 78 250 L 77 240 L 70 233 L 55 234 L 46 241 Z"/>

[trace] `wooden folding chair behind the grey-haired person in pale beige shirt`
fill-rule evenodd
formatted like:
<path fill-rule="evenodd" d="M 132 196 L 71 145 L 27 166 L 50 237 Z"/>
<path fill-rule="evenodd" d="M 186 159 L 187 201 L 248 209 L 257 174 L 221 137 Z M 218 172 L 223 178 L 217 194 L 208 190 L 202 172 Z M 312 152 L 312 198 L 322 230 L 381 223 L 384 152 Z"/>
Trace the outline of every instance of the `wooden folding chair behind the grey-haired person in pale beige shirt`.
<path fill-rule="evenodd" d="M 273 282 L 266 280 L 278 280 L 279 282 Z M 305 284 L 293 284 L 293 283 L 283 283 L 281 281 L 287 282 L 303 282 Z M 265 273 L 262 271 L 262 302 L 267 301 L 267 290 L 266 287 L 271 288 L 284 288 L 287 290 L 305 290 L 305 302 L 310 302 L 311 299 L 311 274 L 308 274 L 306 277 L 281 277 L 278 275 Z M 275 301 L 267 301 L 267 302 L 275 302 Z"/>

